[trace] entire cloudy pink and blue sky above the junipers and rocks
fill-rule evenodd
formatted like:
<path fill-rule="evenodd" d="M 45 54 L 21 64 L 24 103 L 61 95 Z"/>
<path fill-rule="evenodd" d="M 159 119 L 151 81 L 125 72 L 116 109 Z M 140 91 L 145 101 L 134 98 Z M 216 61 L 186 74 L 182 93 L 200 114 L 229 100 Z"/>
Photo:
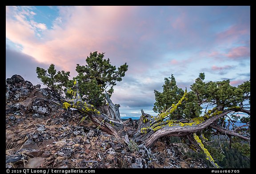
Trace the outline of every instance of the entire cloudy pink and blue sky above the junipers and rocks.
<path fill-rule="evenodd" d="M 90 52 L 128 64 L 113 103 L 120 114 L 152 115 L 154 89 L 171 74 L 189 89 L 205 81 L 250 79 L 250 6 L 6 6 L 6 78 L 40 83 L 36 67 L 77 75 Z"/>

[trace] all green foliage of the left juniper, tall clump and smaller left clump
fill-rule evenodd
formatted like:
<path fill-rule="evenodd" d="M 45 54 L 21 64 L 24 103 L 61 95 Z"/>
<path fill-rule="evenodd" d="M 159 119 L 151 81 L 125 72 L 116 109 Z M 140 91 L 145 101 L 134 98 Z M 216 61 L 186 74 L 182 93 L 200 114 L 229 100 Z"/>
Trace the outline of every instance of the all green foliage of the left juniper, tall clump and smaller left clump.
<path fill-rule="evenodd" d="M 86 65 L 80 66 L 77 64 L 76 72 L 78 75 L 69 80 L 70 72 L 58 71 L 51 64 L 48 71 L 37 67 L 37 77 L 52 90 L 61 92 L 63 88 L 66 91 L 75 91 L 74 81 L 79 82 L 79 91 L 83 101 L 94 105 L 96 108 L 105 104 L 105 94 L 107 91 L 109 96 L 114 92 L 113 87 L 116 81 L 122 81 L 125 72 L 128 70 L 128 65 L 125 63 L 120 67 L 111 65 L 108 59 L 104 59 L 104 53 L 97 51 L 91 52 L 86 58 Z M 71 93 L 66 93 L 66 97 L 72 98 Z"/>

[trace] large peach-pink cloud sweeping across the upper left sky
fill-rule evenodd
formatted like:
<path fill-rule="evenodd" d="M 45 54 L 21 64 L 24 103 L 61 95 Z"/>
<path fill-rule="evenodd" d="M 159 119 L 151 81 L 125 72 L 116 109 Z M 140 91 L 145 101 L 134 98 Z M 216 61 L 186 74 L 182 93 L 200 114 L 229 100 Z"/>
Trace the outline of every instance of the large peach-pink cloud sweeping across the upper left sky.
<path fill-rule="evenodd" d="M 133 6 L 59 7 L 60 16 L 52 29 L 48 29 L 44 23 L 28 21 L 25 16 L 34 15 L 28 9 L 9 8 L 6 38 L 22 45 L 24 54 L 39 62 L 59 65 L 66 71 L 73 70 L 76 63 L 84 64 L 90 52 L 111 49 L 113 46 L 107 43 L 116 42 L 119 26 L 136 9 Z M 36 36 L 37 29 L 43 31 L 44 39 Z"/>

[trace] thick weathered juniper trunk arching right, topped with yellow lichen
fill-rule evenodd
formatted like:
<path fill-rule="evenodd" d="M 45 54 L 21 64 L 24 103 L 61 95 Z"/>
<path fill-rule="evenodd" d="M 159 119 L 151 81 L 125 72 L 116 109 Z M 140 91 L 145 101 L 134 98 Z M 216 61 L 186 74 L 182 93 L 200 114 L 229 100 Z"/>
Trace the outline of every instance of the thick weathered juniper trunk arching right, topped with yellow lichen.
<path fill-rule="evenodd" d="M 180 122 L 176 121 L 175 123 L 171 123 L 168 121 L 155 121 L 155 119 L 152 118 L 149 114 L 145 114 L 144 112 L 142 112 L 142 116 L 139 120 L 139 128 L 136 130 L 132 138 L 135 139 L 136 142 L 140 142 L 146 147 L 150 147 L 154 142 L 156 142 L 157 139 L 166 135 L 184 136 L 201 131 L 204 128 L 209 127 L 214 121 L 218 120 L 220 117 L 225 116 L 226 114 L 234 110 L 235 109 L 227 110 L 205 121 L 191 119 L 181 120 Z M 243 135 L 240 135 L 240 138 L 242 137 L 243 139 L 248 139 Z"/>

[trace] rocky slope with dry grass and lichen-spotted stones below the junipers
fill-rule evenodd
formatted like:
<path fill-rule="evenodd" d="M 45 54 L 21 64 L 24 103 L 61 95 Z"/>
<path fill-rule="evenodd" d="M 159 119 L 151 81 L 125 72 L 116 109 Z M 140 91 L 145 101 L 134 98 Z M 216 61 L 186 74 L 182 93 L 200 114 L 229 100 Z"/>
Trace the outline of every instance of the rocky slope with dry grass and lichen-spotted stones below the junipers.
<path fill-rule="evenodd" d="M 20 75 L 6 79 L 7 168 L 205 168 L 204 160 L 190 162 L 168 139 L 151 149 L 128 145 L 107 135 L 77 110 L 65 110 L 50 89 L 33 86 Z M 124 121 L 127 132 L 137 121 Z M 184 147 L 185 148 L 185 147 Z"/>

